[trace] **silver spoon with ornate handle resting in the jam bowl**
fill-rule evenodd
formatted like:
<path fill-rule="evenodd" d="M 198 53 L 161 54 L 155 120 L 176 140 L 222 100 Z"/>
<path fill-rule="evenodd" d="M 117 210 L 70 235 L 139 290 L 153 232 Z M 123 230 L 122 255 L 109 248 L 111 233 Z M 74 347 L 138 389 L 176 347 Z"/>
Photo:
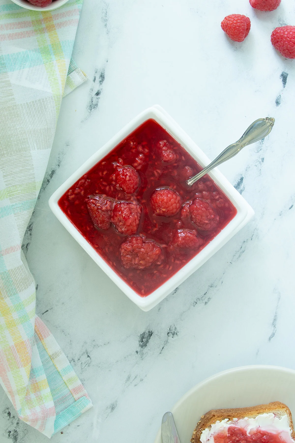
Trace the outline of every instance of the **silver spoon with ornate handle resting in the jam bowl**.
<path fill-rule="evenodd" d="M 236 143 L 230 144 L 221 154 L 213 160 L 210 165 L 206 166 L 199 174 L 195 175 L 191 179 L 187 180 L 189 186 L 192 186 L 196 181 L 198 181 L 203 175 L 207 174 L 211 169 L 214 169 L 221 163 L 226 162 L 226 160 L 231 159 L 234 155 L 238 154 L 242 148 L 248 144 L 255 143 L 264 137 L 266 137 L 272 130 L 275 123 L 275 119 L 272 117 L 259 118 L 250 124 L 249 128 L 241 136 L 240 140 Z"/>

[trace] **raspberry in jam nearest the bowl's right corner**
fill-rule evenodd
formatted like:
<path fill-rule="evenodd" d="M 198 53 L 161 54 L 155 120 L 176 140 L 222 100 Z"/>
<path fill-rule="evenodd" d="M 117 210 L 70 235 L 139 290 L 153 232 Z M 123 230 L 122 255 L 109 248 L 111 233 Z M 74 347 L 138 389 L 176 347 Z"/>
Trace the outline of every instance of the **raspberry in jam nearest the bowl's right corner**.
<path fill-rule="evenodd" d="M 192 223 L 201 231 L 212 231 L 219 222 L 219 216 L 207 202 L 196 198 L 189 206 Z"/>

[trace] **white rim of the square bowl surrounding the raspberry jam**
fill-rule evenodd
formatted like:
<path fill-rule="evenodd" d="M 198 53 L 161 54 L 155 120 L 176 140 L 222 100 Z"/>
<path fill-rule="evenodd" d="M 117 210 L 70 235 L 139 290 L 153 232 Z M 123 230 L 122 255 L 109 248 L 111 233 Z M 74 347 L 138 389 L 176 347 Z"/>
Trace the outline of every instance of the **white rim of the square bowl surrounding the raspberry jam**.
<path fill-rule="evenodd" d="M 65 229 L 74 237 L 82 246 L 89 256 L 100 266 L 100 268 L 113 280 L 113 282 L 143 311 L 149 311 L 163 300 L 170 292 L 180 285 L 186 278 L 195 272 L 202 264 L 204 264 L 215 252 L 218 251 L 231 237 L 234 236 L 245 224 L 253 217 L 254 211 L 238 193 L 238 191 L 230 184 L 230 182 L 217 170 L 210 172 L 211 178 L 226 194 L 237 209 L 235 217 L 226 225 L 222 231 L 202 249 L 195 257 L 192 258 L 183 268 L 170 277 L 164 284 L 153 291 L 146 297 L 141 297 L 133 289 L 128 286 L 124 280 L 107 264 L 105 260 L 96 252 L 88 241 L 80 234 L 72 222 L 62 212 L 57 202 L 59 198 L 75 183 L 82 175 L 98 163 L 105 155 L 107 155 L 115 146 L 124 140 L 130 132 L 133 132 L 144 121 L 152 118 L 161 124 L 172 137 L 174 137 L 186 151 L 202 166 L 205 167 L 210 163 L 207 155 L 194 143 L 194 141 L 180 128 L 180 126 L 172 120 L 164 109 L 159 105 L 154 105 L 140 113 L 137 117 L 126 124 L 121 131 L 111 138 L 102 148 L 93 154 L 86 162 L 74 172 L 69 179 L 65 181 L 50 197 L 49 206 Z"/>

